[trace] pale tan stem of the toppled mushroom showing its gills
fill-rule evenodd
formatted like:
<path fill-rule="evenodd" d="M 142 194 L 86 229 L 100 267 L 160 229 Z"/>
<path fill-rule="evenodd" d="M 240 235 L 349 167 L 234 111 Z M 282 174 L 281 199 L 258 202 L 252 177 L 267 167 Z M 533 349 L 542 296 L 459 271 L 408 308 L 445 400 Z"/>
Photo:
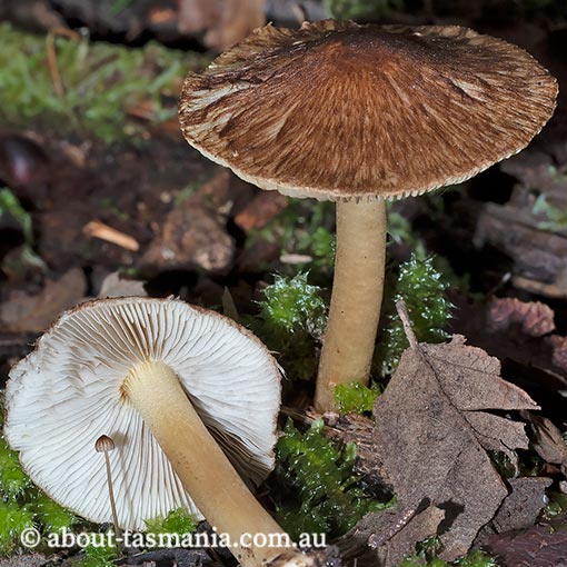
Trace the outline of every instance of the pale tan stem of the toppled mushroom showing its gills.
<path fill-rule="evenodd" d="M 123 381 L 122 394 L 140 412 L 199 510 L 219 534 L 228 535 L 231 553 L 243 567 L 268 564 L 292 549 L 290 537 L 250 494 L 168 366 L 138 365 Z M 273 538 L 276 545 L 258 545 L 256 534 Z"/>

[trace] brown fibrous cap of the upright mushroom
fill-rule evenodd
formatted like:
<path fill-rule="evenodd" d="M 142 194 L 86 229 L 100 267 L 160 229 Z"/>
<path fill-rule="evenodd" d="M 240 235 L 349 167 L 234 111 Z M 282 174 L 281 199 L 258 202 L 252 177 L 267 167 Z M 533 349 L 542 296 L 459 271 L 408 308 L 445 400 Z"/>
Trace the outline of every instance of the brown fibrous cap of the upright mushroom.
<path fill-rule="evenodd" d="M 556 80 L 526 51 L 457 26 L 266 26 L 190 73 L 187 141 L 262 189 L 401 198 L 523 149 Z"/>

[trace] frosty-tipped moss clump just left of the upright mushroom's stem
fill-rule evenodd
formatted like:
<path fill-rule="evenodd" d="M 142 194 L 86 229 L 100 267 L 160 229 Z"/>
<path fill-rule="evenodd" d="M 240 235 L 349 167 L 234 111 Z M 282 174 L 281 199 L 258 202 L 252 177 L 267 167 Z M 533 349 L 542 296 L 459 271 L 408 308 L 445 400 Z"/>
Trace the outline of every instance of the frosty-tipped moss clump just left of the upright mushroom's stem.
<path fill-rule="evenodd" d="M 263 290 L 257 317 L 245 322 L 279 355 L 291 378 L 309 380 L 317 370 L 317 346 L 325 329 L 327 306 L 307 273 L 276 276 Z"/>

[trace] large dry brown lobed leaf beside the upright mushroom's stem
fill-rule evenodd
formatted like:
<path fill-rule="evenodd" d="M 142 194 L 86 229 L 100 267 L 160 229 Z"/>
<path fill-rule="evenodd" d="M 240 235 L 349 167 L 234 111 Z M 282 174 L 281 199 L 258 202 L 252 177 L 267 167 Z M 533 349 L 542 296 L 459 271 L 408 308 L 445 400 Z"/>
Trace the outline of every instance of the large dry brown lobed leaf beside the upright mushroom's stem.
<path fill-rule="evenodd" d="M 486 410 L 539 408 L 499 377 L 496 358 L 466 346 L 464 337 L 446 345 L 410 342 L 375 406 L 376 451 L 400 514 L 424 499 L 445 510 L 441 557 L 452 560 L 468 551 L 508 494 L 486 449 L 528 447 L 521 424 Z M 398 536 L 409 553 L 415 541 L 405 533 L 412 521 Z"/>

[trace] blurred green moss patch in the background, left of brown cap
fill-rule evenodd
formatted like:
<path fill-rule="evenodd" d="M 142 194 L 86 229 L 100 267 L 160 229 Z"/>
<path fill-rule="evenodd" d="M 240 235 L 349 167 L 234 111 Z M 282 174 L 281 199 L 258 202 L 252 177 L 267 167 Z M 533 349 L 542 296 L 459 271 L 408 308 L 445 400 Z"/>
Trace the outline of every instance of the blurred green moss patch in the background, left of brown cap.
<path fill-rule="evenodd" d="M 205 64 L 201 56 L 157 43 L 131 49 L 58 38 L 59 96 L 46 63 L 46 38 L 0 23 L 0 121 L 27 126 L 41 118 L 58 129 L 82 129 L 106 141 L 139 137 L 128 110 L 149 99 L 157 122 L 177 112 L 179 80 Z"/>

